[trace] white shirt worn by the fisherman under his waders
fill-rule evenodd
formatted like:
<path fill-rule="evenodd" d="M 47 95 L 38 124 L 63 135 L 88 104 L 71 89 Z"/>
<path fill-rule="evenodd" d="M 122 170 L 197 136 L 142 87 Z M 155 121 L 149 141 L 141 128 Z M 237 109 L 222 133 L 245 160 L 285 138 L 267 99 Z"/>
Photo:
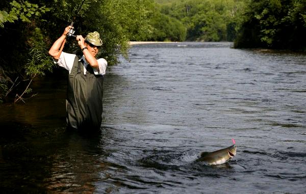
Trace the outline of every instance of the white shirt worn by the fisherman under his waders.
<path fill-rule="evenodd" d="M 69 74 L 71 73 L 71 69 L 73 67 L 73 62 L 74 62 L 74 59 L 75 59 L 75 54 L 70 54 L 70 53 L 66 53 L 66 52 L 62 52 L 61 53 L 61 56 L 59 58 L 59 60 L 55 63 L 58 64 L 60 67 L 63 67 L 65 69 L 67 69 L 69 71 Z M 86 67 L 87 65 L 89 65 L 89 63 L 86 62 L 85 60 L 85 56 L 83 55 L 82 58 L 79 60 L 84 60 L 84 74 L 86 74 Z M 98 61 L 98 66 L 99 66 L 99 69 L 95 69 L 93 68 L 93 73 L 95 75 L 105 75 L 106 73 L 106 68 L 107 68 L 107 61 L 103 58 L 100 58 L 100 59 L 97 59 Z"/>

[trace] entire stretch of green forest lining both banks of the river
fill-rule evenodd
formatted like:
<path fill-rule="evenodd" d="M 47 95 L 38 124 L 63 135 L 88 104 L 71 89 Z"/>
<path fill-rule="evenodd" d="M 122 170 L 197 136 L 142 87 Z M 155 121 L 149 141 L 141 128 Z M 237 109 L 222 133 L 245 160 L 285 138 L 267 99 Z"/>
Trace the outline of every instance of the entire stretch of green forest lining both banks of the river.
<path fill-rule="evenodd" d="M 234 41 L 237 48 L 306 49 L 306 0 L 10 0 L 0 2 L 0 102 L 31 93 L 55 65 L 47 50 L 74 22 L 98 31 L 109 65 L 129 41 Z M 78 53 L 68 40 L 66 51 Z M 19 93 L 18 93 L 18 92 Z"/>

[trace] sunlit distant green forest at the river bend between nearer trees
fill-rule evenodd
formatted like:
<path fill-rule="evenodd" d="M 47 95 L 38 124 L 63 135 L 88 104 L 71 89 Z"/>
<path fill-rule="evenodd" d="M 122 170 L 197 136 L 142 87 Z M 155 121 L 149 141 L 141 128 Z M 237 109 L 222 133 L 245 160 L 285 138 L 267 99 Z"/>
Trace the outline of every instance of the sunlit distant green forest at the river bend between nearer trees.
<path fill-rule="evenodd" d="M 147 40 L 233 41 L 247 0 L 156 1 Z M 168 33 L 169 32 L 169 33 Z"/>

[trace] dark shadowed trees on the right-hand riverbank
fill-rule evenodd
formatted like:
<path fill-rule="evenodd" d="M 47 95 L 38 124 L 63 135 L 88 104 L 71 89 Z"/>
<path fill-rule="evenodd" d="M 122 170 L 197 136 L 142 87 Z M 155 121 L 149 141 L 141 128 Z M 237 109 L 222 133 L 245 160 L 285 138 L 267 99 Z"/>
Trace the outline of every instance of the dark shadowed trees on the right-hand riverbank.
<path fill-rule="evenodd" d="M 235 46 L 305 48 L 305 14 L 305 0 L 252 0 Z"/>

